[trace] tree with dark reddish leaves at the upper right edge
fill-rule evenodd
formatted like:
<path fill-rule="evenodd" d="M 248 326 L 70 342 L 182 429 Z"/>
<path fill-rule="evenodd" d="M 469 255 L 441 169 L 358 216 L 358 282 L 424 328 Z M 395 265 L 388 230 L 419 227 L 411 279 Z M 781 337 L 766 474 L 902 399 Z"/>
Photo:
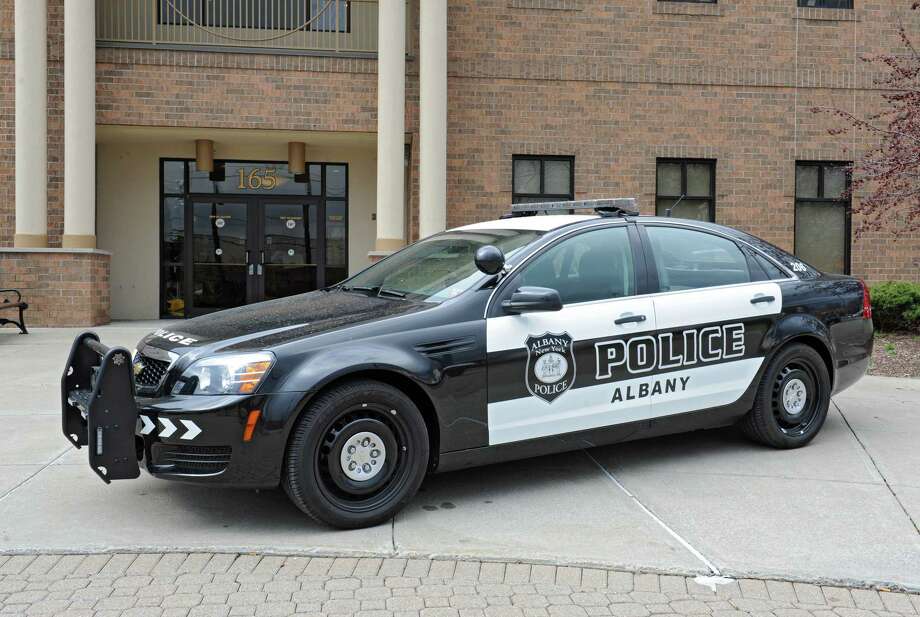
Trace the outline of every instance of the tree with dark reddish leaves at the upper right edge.
<path fill-rule="evenodd" d="M 920 0 L 911 6 L 918 8 Z M 862 216 L 857 232 L 883 226 L 891 227 L 895 235 L 920 230 L 920 50 L 903 25 L 899 37 L 904 46 L 901 53 L 863 59 L 885 72 L 876 79 L 883 89 L 883 111 L 859 118 L 840 109 L 812 109 L 838 116 L 850 125 L 830 129 L 831 135 L 855 128 L 878 140 L 853 164 L 850 192 L 865 190 L 854 208 Z"/>

